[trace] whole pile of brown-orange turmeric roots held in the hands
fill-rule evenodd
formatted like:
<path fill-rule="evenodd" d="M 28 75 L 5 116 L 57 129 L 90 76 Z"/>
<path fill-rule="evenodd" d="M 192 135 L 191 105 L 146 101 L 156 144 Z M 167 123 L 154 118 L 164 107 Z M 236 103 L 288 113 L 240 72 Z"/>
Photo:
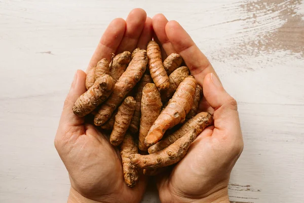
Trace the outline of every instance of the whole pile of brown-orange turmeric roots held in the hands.
<path fill-rule="evenodd" d="M 159 45 L 150 41 L 147 50 L 101 59 L 87 72 L 87 92 L 72 110 L 79 117 L 93 114 L 94 124 L 110 132 L 130 187 L 139 170 L 156 175 L 180 161 L 213 122 L 211 114 L 198 113 L 203 89 L 182 64 L 176 53 L 163 61 Z"/>

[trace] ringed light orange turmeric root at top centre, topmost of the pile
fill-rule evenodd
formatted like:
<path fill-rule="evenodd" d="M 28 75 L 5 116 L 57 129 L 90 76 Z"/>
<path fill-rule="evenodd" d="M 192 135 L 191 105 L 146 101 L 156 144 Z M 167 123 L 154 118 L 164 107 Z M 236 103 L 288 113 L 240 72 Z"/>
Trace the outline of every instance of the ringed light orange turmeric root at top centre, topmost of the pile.
<path fill-rule="evenodd" d="M 163 65 L 160 46 L 155 41 L 148 43 L 147 55 L 151 78 L 155 85 L 160 91 L 168 89 L 169 78 Z"/>

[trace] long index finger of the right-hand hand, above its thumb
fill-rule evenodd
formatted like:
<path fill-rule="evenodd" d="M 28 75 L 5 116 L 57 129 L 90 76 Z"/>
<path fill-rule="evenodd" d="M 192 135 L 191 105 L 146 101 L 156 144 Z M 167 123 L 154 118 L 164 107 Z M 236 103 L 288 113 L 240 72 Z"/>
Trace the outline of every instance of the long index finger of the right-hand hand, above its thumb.
<path fill-rule="evenodd" d="M 166 24 L 166 34 L 176 53 L 181 55 L 191 74 L 195 76 L 201 86 L 208 73 L 213 73 L 216 76 L 207 57 L 178 22 L 168 22 Z"/>

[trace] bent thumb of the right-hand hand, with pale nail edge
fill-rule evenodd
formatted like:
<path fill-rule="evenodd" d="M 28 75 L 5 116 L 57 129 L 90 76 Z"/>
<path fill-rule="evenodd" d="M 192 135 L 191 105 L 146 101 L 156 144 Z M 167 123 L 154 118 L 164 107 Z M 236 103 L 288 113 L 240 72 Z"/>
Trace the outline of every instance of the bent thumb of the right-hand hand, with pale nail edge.
<path fill-rule="evenodd" d="M 235 136 L 242 135 L 237 102 L 225 91 L 214 74 L 211 73 L 205 77 L 203 91 L 206 100 L 215 110 L 213 114 L 214 132 L 216 130 L 223 130 L 225 132 L 215 134 L 233 132 L 232 134 Z"/>

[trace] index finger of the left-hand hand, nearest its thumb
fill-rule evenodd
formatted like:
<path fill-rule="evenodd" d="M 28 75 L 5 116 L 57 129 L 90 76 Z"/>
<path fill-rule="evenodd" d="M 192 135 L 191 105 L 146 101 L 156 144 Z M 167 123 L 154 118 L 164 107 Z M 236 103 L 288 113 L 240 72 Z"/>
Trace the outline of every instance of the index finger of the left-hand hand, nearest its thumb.
<path fill-rule="evenodd" d="M 126 30 L 126 21 L 122 18 L 116 18 L 110 22 L 104 31 L 99 44 L 91 58 L 88 69 L 96 66 L 102 58 L 110 61 L 111 53 L 115 53 L 120 45 Z"/>

